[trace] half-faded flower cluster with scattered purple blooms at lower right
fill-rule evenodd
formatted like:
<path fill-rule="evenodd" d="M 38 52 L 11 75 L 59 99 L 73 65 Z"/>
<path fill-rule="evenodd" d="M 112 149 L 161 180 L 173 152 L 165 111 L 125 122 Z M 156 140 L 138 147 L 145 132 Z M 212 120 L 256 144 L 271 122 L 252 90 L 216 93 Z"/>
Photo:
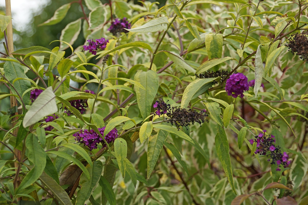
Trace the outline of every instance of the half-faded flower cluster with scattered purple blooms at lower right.
<path fill-rule="evenodd" d="M 277 164 L 278 168 L 277 171 L 280 171 L 279 168 L 280 165 L 282 165 L 284 168 L 289 166 L 291 161 L 288 161 L 289 156 L 286 152 L 281 153 L 280 147 L 275 146 L 275 136 L 274 135 L 267 135 L 265 136 L 266 130 L 263 130 L 263 133 L 259 133 L 259 135 L 256 135 L 254 139 L 250 139 L 250 144 L 253 144 L 254 142 L 257 143 L 257 149 L 254 152 L 255 154 L 259 153 L 261 155 L 270 156 L 270 159 L 267 161 L 272 160 L 271 164 Z"/>

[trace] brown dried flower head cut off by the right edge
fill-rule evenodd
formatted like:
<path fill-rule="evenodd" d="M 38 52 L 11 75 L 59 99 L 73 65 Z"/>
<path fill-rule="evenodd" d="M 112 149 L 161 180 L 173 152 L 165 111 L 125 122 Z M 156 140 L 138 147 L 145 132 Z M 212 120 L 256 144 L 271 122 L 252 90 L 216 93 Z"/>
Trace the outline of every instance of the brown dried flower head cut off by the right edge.
<path fill-rule="evenodd" d="M 304 34 L 293 34 L 290 37 L 289 44 L 287 44 L 289 50 L 298 55 L 300 59 L 308 62 L 308 38 Z"/>

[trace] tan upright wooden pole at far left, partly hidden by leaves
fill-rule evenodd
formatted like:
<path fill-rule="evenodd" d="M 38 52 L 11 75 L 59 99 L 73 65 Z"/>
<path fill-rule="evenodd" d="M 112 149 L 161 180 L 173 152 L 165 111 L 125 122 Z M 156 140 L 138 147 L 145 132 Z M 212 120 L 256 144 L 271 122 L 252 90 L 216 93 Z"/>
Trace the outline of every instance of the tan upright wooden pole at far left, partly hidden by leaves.
<path fill-rule="evenodd" d="M 10 0 L 5 0 L 5 11 L 6 11 L 6 16 L 12 16 L 11 12 L 11 1 Z M 13 25 L 12 25 L 12 20 L 10 21 L 9 25 L 6 27 L 6 38 L 7 38 L 7 47 L 9 48 L 9 53 L 12 53 L 14 51 L 14 44 L 13 44 Z M 10 54 L 10 57 L 13 57 L 12 54 Z M 13 108 L 14 106 L 17 106 L 17 100 L 16 97 L 10 96 L 10 106 Z M 15 109 L 14 109 L 15 110 Z M 18 112 L 12 113 L 12 115 L 18 115 Z M 14 127 L 17 123 L 18 118 L 14 117 L 12 119 L 12 126 Z M 13 130 L 13 134 L 17 136 L 18 133 L 18 128 Z M 14 152 L 17 156 L 17 161 L 15 162 L 15 167 L 18 168 L 19 160 L 21 153 L 18 149 L 14 149 Z M 17 169 L 16 169 L 17 171 Z M 19 182 L 19 177 L 17 177 L 17 180 L 14 180 L 14 187 L 17 188 L 18 185 L 20 184 Z"/>

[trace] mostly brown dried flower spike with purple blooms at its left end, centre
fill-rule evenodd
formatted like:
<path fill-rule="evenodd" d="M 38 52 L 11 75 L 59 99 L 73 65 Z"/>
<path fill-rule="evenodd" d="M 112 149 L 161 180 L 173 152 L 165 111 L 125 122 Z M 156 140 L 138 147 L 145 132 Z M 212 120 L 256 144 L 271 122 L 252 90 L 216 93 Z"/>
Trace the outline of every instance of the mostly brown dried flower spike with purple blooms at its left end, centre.
<path fill-rule="evenodd" d="M 197 112 L 192 109 L 171 108 L 170 104 L 165 103 L 161 99 L 156 101 L 153 107 L 156 108 L 156 115 L 166 114 L 168 122 L 172 125 L 174 124 L 178 130 L 180 130 L 180 127 L 187 127 L 190 123 L 193 124 L 194 122 L 201 125 L 201 123 L 206 121 L 205 117 L 208 116 L 205 110 Z"/>

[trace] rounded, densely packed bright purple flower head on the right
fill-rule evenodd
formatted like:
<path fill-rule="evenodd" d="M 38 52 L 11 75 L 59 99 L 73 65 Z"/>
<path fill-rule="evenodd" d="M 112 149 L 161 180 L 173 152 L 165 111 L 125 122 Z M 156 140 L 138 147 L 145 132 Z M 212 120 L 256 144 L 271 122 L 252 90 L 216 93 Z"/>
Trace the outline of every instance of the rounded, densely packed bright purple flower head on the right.
<path fill-rule="evenodd" d="M 225 90 L 232 97 L 244 97 L 244 92 L 249 90 L 247 77 L 243 73 L 233 73 L 226 81 Z"/>

